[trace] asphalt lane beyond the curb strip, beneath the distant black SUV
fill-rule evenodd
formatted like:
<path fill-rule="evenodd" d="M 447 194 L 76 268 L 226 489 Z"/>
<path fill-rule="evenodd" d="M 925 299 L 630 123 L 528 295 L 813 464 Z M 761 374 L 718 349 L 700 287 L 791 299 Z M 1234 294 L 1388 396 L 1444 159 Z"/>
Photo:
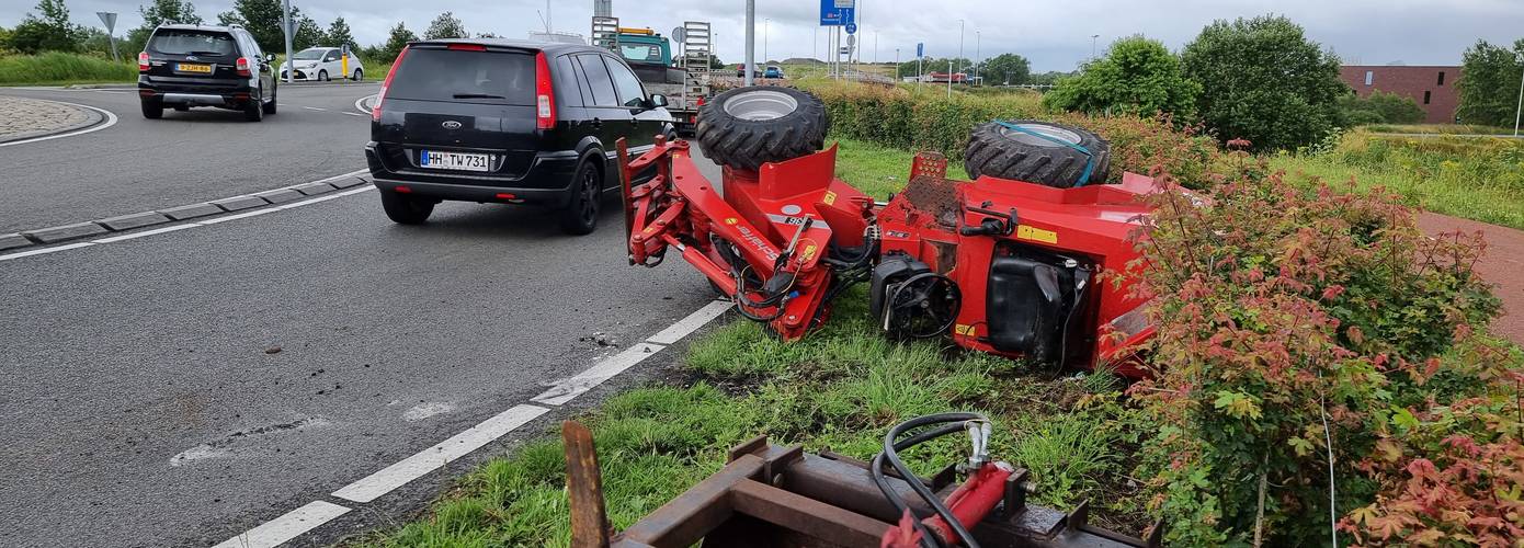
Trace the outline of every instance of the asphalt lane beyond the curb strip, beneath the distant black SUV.
<path fill-rule="evenodd" d="M 111 128 L 0 146 L 0 233 L 238 196 L 364 167 L 370 119 L 355 99 L 378 84 L 283 85 L 279 113 L 195 108 L 148 120 L 136 90 L 26 90 L 0 94 L 116 113 Z M 347 113 L 347 114 L 346 114 Z"/>

